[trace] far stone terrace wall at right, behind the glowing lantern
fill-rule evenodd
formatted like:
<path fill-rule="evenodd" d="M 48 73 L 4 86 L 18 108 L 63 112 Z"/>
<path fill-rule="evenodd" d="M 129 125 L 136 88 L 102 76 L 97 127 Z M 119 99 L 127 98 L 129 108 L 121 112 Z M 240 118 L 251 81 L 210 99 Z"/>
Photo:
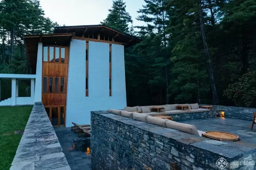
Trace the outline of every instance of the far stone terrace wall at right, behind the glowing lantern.
<path fill-rule="evenodd" d="M 202 105 L 201 105 L 202 106 Z M 225 117 L 242 119 L 242 120 L 251 120 L 253 119 L 253 113 L 256 113 L 256 108 L 249 108 L 249 107 L 233 107 L 233 106 L 217 106 L 212 105 L 213 111 L 220 111 L 225 112 Z"/>

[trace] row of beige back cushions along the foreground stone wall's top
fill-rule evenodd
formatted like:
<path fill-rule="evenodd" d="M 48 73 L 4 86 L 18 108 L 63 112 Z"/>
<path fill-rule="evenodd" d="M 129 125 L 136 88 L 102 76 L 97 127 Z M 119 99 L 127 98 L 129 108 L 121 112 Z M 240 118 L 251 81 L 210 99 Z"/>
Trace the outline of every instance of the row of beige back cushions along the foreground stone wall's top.
<path fill-rule="evenodd" d="M 175 122 L 172 120 L 168 119 L 162 119 L 158 117 L 152 117 L 147 114 L 141 114 L 141 113 L 136 113 L 136 112 L 131 112 L 131 111 L 122 111 L 122 110 L 115 110 L 115 109 L 109 109 L 109 113 L 113 113 L 115 115 L 123 116 L 123 117 L 128 117 L 128 118 L 133 118 L 135 120 L 143 121 L 143 122 L 148 122 L 150 124 L 156 124 L 159 126 L 167 127 L 167 128 L 172 128 L 176 130 L 180 130 L 182 132 L 187 132 L 189 134 L 194 134 L 197 136 L 200 136 L 196 127 L 192 124 L 185 124 L 185 123 L 180 123 L 180 122 Z"/>

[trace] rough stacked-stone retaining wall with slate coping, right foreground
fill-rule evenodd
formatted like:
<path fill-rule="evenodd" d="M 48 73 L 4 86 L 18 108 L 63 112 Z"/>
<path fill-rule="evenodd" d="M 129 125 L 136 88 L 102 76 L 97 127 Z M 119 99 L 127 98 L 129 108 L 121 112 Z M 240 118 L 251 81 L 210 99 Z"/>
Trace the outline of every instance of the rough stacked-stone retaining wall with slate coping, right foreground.
<path fill-rule="evenodd" d="M 92 170 L 217 170 L 216 162 L 221 157 L 227 162 L 256 159 L 252 148 L 107 111 L 91 112 L 91 155 Z M 230 164 L 228 167 L 230 170 L 248 168 Z"/>

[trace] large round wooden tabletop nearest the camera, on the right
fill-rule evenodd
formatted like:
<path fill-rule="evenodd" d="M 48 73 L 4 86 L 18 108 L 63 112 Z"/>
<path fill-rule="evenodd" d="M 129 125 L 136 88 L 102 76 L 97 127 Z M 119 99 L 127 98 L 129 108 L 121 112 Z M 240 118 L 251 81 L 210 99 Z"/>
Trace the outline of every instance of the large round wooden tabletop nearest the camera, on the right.
<path fill-rule="evenodd" d="M 207 131 L 203 134 L 203 136 L 215 139 L 219 141 L 239 141 L 239 136 L 235 134 L 231 134 L 229 132 L 219 132 L 219 131 Z"/>

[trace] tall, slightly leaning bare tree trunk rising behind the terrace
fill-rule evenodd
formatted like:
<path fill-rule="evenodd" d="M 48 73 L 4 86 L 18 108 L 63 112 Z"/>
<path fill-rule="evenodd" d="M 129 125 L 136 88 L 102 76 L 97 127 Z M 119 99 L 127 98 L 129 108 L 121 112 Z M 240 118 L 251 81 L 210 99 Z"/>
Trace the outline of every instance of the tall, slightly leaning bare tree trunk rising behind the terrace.
<path fill-rule="evenodd" d="M 211 90 L 212 90 L 212 93 L 213 93 L 213 102 L 214 102 L 214 105 L 219 105 L 217 90 L 216 90 L 214 76 L 213 76 L 213 69 L 211 67 L 211 59 L 210 59 L 210 56 L 209 56 L 209 50 L 208 50 L 208 46 L 207 46 L 207 42 L 206 42 L 205 28 L 204 28 L 204 23 L 203 23 L 203 11 L 201 9 L 201 0 L 199 0 L 199 19 L 200 19 L 202 38 L 203 38 L 203 48 L 205 50 L 205 60 L 206 60 L 206 63 L 207 63 L 207 69 L 208 69 L 209 78 L 210 78 L 210 81 L 211 81 Z"/>

